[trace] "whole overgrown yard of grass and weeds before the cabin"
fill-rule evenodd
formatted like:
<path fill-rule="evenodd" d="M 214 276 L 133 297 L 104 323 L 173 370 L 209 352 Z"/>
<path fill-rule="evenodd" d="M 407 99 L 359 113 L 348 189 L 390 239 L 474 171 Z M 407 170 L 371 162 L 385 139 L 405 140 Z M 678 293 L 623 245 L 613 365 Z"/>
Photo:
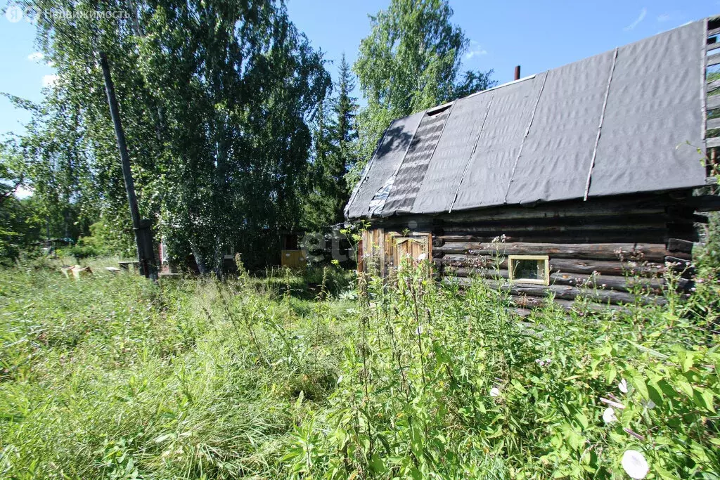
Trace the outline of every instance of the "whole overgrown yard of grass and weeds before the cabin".
<path fill-rule="evenodd" d="M 622 478 L 626 450 L 648 478 L 720 471 L 711 273 L 666 307 L 518 322 L 411 270 L 353 293 L 95 267 L 0 271 L 0 476 Z"/>

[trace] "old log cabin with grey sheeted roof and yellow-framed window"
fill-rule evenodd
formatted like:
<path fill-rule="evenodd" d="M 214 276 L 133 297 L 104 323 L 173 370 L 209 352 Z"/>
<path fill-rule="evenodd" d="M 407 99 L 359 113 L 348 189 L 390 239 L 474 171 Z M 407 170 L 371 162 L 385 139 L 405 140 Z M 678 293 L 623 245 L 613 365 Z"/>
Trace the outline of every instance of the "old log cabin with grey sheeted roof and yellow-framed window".
<path fill-rule="evenodd" d="M 427 261 L 524 308 L 662 302 L 720 205 L 719 35 L 703 19 L 396 119 L 345 209 L 359 269 Z"/>

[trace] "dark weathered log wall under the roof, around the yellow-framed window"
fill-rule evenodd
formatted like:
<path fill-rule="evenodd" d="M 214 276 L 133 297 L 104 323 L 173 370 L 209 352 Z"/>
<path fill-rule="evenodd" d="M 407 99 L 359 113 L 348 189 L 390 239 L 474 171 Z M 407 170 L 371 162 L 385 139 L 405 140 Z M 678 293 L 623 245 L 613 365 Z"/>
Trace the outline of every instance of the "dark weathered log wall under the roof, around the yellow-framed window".
<path fill-rule="evenodd" d="M 579 296 L 606 305 L 662 304 L 662 273 L 667 268 L 690 272 L 695 223 L 706 221 L 695 213 L 693 198 L 676 192 L 393 217 L 373 224 L 431 232 L 433 264 L 445 281 L 467 284 L 479 276 L 525 309 L 550 295 L 564 307 Z M 550 285 L 510 283 L 508 255 L 548 255 Z M 680 288 L 690 288 L 686 276 Z M 643 294 L 636 297 L 639 289 Z"/>

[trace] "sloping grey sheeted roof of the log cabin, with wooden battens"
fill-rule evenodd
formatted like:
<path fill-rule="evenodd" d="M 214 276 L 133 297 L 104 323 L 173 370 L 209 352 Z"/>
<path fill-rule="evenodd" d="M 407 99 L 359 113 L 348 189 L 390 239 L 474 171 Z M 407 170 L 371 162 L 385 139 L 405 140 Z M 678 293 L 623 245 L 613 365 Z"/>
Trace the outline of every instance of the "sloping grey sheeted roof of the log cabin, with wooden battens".
<path fill-rule="evenodd" d="M 346 207 L 387 217 L 701 186 L 706 20 L 390 124 Z"/>

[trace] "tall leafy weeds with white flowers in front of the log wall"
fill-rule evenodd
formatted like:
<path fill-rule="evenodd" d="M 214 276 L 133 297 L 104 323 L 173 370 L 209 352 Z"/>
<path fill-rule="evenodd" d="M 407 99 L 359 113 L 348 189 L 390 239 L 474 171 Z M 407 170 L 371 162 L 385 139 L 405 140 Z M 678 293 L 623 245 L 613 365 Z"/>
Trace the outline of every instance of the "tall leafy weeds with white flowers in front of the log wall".
<path fill-rule="evenodd" d="M 295 433 L 295 474 L 495 478 L 493 461 L 513 478 L 620 478 L 626 450 L 656 478 L 720 468 L 717 312 L 697 316 L 716 281 L 699 284 L 697 300 L 670 294 L 665 310 L 580 307 L 568 318 L 548 304 L 529 323 L 482 281 L 464 294 L 420 271 L 391 288 L 363 281 L 332 430 Z"/>

